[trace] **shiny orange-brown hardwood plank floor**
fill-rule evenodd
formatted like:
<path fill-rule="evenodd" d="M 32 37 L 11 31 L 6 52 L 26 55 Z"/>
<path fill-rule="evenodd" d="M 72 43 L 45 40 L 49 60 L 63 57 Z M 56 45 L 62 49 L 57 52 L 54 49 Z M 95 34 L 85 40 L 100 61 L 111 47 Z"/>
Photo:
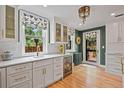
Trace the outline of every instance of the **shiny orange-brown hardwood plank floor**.
<path fill-rule="evenodd" d="M 103 68 L 91 65 L 74 67 L 73 74 L 49 88 L 121 88 L 121 77 L 105 72 Z"/>

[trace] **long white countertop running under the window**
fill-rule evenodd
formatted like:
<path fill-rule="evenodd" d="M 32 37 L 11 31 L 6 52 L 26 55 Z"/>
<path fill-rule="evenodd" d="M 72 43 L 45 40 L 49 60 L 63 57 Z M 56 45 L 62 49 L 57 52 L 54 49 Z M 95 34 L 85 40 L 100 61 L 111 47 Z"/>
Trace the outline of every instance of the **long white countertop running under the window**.
<path fill-rule="evenodd" d="M 61 56 L 68 56 L 68 54 L 49 54 L 49 55 L 41 55 L 41 56 L 32 56 L 32 57 L 22 57 L 17 58 L 9 61 L 0 61 L 0 68 L 11 66 L 11 65 L 17 65 L 22 63 L 28 63 L 28 62 L 34 62 L 38 60 L 44 60 L 49 58 L 55 58 L 55 57 L 61 57 Z"/>

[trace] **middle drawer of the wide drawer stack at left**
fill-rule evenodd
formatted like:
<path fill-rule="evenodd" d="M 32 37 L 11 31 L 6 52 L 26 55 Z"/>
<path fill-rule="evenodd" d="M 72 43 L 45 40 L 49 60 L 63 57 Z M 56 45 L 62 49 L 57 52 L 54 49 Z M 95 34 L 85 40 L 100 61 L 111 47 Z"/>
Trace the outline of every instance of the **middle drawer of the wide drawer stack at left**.
<path fill-rule="evenodd" d="M 11 87 L 31 79 L 32 79 L 31 70 L 25 71 L 23 73 L 13 74 L 13 75 L 7 76 L 7 87 Z"/>

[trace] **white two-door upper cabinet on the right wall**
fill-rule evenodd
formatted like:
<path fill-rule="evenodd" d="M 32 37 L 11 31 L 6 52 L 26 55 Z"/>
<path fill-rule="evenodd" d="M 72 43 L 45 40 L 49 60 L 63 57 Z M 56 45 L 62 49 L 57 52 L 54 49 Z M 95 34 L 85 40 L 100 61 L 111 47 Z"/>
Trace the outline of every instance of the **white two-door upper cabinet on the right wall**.
<path fill-rule="evenodd" d="M 106 25 L 107 43 L 124 42 L 124 22 L 115 22 Z"/>

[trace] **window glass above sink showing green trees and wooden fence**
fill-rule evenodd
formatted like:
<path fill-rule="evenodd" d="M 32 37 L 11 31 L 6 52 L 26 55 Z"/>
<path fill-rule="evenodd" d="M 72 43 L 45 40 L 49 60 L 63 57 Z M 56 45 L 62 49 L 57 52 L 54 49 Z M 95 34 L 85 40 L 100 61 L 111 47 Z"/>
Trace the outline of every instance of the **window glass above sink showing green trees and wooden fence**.
<path fill-rule="evenodd" d="M 33 29 L 25 26 L 25 52 L 36 52 L 36 40 L 39 51 L 43 51 L 42 28 Z"/>

